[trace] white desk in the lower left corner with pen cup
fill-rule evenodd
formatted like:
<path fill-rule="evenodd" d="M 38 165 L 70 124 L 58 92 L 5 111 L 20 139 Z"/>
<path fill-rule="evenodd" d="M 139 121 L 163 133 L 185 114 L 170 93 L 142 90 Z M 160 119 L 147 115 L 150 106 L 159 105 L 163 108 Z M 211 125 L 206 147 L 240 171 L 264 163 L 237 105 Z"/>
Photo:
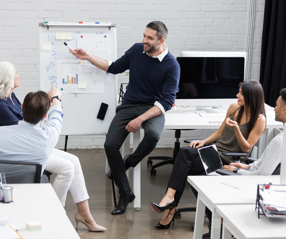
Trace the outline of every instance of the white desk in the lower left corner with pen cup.
<path fill-rule="evenodd" d="M 13 203 L 0 203 L 0 216 L 8 217 L 10 225 L 19 226 L 23 238 L 80 239 L 50 183 L 9 186 L 13 187 Z M 39 221 L 42 230 L 29 231 L 25 228 L 27 221 Z"/>

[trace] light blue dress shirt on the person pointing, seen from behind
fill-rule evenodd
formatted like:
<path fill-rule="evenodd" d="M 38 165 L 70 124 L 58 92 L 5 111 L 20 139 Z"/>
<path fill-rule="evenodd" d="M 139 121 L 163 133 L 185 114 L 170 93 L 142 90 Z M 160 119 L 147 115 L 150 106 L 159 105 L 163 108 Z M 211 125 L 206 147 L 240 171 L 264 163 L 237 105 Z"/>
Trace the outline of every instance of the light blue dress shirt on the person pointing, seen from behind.
<path fill-rule="evenodd" d="M 48 112 L 48 122 L 43 128 L 19 121 L 18 125 L 0 127 L 0 159 L 46 163 L 58 143 L 62 129 L 63 111 L 53 106 Z"/>

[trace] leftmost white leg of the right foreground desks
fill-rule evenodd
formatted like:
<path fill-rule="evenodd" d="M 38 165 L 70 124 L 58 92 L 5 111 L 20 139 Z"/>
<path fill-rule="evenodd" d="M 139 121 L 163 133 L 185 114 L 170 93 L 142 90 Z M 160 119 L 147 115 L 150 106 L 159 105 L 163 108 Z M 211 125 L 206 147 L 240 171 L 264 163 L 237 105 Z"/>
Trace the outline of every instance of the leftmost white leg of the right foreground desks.
<path fill-rule="evenodd" d="M 195 232 L 194 239 L 201 239 L 203 235 L 203 227 L 204 227 L 204 212 L 206 210 L 206 206 L 201 201 L 201 196 L 198 194 L 197 199 L 197 209 L 195 216 Z"/>

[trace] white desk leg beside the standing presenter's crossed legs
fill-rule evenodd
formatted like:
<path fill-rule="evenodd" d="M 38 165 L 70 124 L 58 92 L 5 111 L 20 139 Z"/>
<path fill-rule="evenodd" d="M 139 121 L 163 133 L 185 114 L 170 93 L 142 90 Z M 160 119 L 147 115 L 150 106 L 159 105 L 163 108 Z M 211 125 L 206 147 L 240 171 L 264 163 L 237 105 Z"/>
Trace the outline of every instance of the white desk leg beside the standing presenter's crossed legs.
<path fill-rule="evenodd" d="M 136 150 L 140 143 L 140 129 L 133 134 L 133 152 Z M 140 163 L 133 170 L 133 193 L 136 196 L 134 199 L 134 208 L 139 210 L 141 207 L 141 183 L 140 183 Z"/>

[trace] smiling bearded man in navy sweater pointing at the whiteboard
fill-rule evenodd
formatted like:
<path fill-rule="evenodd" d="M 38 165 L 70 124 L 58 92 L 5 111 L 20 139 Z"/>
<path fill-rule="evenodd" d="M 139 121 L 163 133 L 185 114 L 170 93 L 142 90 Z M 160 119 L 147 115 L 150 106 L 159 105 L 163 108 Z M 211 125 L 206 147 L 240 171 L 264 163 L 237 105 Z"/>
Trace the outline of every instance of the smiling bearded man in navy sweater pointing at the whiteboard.
<path fill-rule="evenodd" d="M 142 43 L 134 44 L 115 62 L 100 59 L 83 49 L 70 50 L 77 58 L 88 60 L 112 74 L 129 69 L 129 84 L 122 104 L 116 108 L 104 144 L 109 167 L 119 188 L 119 201 L 112 215 L 123 214 L 135 195 L 125 171 L 135 167 L 157 145 L 165 123 L 165 111 L 172 108 L 180 79 L 180 66 L 164 43 L 167 27 L 159 21 L 147 24 Z M 122 160 L 120 147 L 129 132 L 142 125 L 144 138 L 133 154 Z"/>

